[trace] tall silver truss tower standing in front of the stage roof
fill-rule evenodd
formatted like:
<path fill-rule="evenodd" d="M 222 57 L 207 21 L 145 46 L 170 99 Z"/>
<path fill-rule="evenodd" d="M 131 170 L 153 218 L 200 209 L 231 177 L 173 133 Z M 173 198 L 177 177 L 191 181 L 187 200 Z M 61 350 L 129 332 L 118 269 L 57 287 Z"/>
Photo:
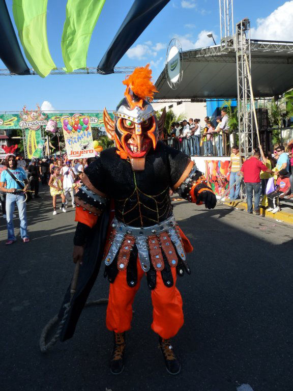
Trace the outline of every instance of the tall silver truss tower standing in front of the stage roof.
<path fill-rule="evenodd" d="M 236 24 L 235 35 L 238 95 L 239 151 L 244 158 L 253 153 L 253 96 L 249 85 L 251 75 L 250 21 Z"/>

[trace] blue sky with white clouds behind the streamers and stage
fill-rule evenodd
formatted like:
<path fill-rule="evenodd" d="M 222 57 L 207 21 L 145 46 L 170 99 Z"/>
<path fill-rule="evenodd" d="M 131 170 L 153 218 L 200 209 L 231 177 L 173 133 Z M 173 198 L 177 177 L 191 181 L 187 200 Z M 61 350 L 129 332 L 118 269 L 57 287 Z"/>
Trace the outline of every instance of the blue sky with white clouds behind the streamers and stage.
<path fill-rule="evenodd" d="M 6 0 L 6 3 L 14 23 L 12 0 Z M 106 0 L 92 35 L 87 66 L 99 64 L 132 3 L 132 0 Z M 57 67 L 64 66 L 61 37 L 65 16 L 66 0 L 48 0 L 48 44 Z M 251 21 L 252 38 L 293 41 L 293 1 L 234 0 L 235 22 L 245 17 Z M 213 44 L 212 39 L 207 37 L 208 32 L 213 32 L 219 43 L 219 0 L 170 0 L 118 66 L 151 63 L 156 80 L 163 69 L 166 48 L 172 38 L 178 37 L 183 49 L 187 50 Z M 31 67 L 28 61 L 27 65 Z M 0 68 L 5 68 L 1 61 Z M 24 104 L 27 109 L 35 109 L 37 103 L 41 105 L 44 101 L 49 102 L 47 107 L 51 104 L 57 110 L 101 110 L 105 106 L 111 110 L 123 97 L 124 78 L 123 74 L 49 75 L 45 79 L 39 76 L 2 76 L 0 111 L 18 111 Z"/>

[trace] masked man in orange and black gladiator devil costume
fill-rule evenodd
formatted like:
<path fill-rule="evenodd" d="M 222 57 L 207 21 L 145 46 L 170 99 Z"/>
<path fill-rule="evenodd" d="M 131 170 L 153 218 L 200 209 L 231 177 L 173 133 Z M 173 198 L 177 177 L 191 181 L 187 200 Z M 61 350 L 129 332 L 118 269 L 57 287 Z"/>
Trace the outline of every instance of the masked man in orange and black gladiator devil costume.
<path fill-rule="evenodd" d="M 82 175 L 76 194 L 77 227 L 73 260 L 80 275 L 61 341 L 73 336 L 76 322 L 96 280 L 101 261 L 110 282 L 106 326 L 113 332 L 110 370 L 124 368 L 125 334 L 131 328 L 132 303 L 144 274 L 153 304 L 152 329 L 159 336 L 166 369 L 180 372 L 170 338 L 184 323 L 177 275 L 189 274 L 186 253 L 192 246 L 175 222 L 169 189 L 196 204 L 216 206 L 216 197 L 184 153 L 158 141 L 164 115 L 157 121 L 150 104 L 155 86 L 149 65 L 123 82 L 125 98 L 114 121 L 104 109 L 104 124 L 115 147 L 101 152 Z M 113 208 L 109 207 L 109 204 Z M 114 209 L 114 216 L 109 210 Z M 70 289 L 59 318 L 69 302 Z M 65 305 L 64 305 L 65 304 Z"/>

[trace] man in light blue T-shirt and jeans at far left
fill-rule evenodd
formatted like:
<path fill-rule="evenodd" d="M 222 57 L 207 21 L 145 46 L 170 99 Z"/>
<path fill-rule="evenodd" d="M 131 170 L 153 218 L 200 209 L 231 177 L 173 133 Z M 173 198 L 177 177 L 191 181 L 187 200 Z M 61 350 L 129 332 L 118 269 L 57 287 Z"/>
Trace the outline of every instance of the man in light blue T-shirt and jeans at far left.
<path fill-rule="evenodd" d="M 21 167 L 17 167 L 15 155 L 11 154 L 6 157 L 7 169 L 20 181 L 20 184 L 16 182 L 9 175 L 7 170 L 1 173 L 0 191 L 6 193 L 6 220 L 7 220 L 7 232 L 8 238 L 5 244 L 9 245 L 16 241 L 14 235 L 13 226 L 13 212 L 15 204 L 18 208 L 20 219 L 20 235 L 24 243 L 30 241 L 27 234 L 27 222 L 26 222 L 26 203 L 25 195 L 28 188 L 28 181 L 26 179 L 25 171 Z"/>

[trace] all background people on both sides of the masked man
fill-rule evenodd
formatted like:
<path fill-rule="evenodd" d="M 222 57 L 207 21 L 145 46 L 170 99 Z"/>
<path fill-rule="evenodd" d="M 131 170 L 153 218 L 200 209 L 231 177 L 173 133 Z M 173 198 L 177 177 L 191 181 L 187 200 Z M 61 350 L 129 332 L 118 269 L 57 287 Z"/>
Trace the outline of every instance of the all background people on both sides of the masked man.
<path fill-rule="evenodd" d="M 188 155 L 213 155 L 213 139 L 217 138 L 218 150 L 227 153 L 226 138 L 226 112 L 222 110 L 222 117 L 217 118 L 216 129 L 209 120 L 204 119 L 206 126 L 201 131 L 199 120 L 192 118 L 182 124 L 174 123 L 171 134 L 174 142 L 180 143 L 180 148 Z M 188 144 L 189 141 L 189 144 Z M 214 144 L 215 145 L 215 144 Z M 229 199 L 235 201 L 240 197 L 242 176 L 247 198 L 248 213 L 260 214 L 260 198 L 262 207 L 276 213 L 280 210 L 279 200 L 284 197 L 293 198 L 293 139 L 284 146 L 276 145 L 273 154 L 264 153 L 262 148 L 254 150 L 253 156 L 245 161 L 241 158 L 239 147 L 231 148 L 229 171 Z M 10 154 L 0 161 L 0 197 L 3 217 L 7 220 L 8 239 L 6 244 L 12 244 L 14 236 L 13 218 L 15 205 L 17 205 L 20 219 L 20 233 L 24 243 L 30 241 L 27 234 L 26 203 L 40 199 L 39 184 L 49 186 L 52 196 L 53 215 L 57 214 L 56 200 L 61 198 L 60 209 L 66 212 L 71 203 L 75 208 L 74 195 L 80 186 L 80 179 L 84 167 L 95 158 L 67 159 L 63 157 L 32 160 L 23 159 L 21 155 Z M 254 208 L 253 208 L 254 193 Z"/>

